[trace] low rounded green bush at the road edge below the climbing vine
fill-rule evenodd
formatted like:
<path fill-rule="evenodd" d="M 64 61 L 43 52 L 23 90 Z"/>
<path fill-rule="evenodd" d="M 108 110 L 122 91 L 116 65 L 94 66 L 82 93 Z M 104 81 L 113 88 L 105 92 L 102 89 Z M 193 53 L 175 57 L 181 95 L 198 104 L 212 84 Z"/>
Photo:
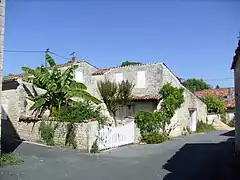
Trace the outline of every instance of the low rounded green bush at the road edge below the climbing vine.
<path fill-rule="evenodd" d="M 158 132 L 151 132 L 151 133 L 143 134 L 141 141 L 145 142 L 147 144 L 159 144 L 168 139 L 169 138 L 166 134 L 158 133 Z"/>

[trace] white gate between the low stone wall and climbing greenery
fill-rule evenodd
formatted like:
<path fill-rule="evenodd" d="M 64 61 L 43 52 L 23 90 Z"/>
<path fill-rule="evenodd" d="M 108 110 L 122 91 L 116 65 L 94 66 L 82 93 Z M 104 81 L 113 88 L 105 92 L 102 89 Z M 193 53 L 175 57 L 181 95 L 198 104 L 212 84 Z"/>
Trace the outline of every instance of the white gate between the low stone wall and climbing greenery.
<path fill-rule="evenodd" d="M 134 121 L 123 126 L 104 126 L 99 131 L 100 150 L 134 143 Z"/>

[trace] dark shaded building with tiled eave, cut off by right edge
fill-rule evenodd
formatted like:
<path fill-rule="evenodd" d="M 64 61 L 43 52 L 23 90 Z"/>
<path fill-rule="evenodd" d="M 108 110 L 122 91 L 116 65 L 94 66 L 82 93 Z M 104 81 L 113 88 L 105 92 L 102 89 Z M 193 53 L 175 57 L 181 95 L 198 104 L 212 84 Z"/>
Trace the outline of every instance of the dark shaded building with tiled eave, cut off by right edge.
<path fill-rule="evenodd" d="M 235 145 L 237 152 L 240 152 L 240 40 L 238 47 L 235 50 L 231 69 L 234 70 L 234 84 L 235 84 L 235 103 L 236 103 L 236 122 L 235 122 Z"/>

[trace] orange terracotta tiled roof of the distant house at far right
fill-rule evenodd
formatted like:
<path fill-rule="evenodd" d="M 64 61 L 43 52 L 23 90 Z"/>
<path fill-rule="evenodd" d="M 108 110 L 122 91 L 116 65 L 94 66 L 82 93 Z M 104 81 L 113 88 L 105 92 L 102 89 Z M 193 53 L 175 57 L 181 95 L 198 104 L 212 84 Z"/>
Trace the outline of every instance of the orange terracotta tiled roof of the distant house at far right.
<path fill-rule="evenodd" d="M 207 89 L 194 92 L 199 98 L 206 96 L 216 96 L 224 99 L 225 105 L 228 109 L 235 108 L 235 93 L 234 88 L 219 88 L 219 89 Z"/>

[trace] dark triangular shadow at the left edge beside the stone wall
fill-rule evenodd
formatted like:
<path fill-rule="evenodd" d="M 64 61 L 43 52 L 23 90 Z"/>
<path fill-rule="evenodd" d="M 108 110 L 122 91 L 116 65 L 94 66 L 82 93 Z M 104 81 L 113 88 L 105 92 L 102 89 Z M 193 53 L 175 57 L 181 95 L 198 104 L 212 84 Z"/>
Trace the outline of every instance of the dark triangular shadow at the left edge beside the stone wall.
<path fill-rule="evenodd" d="M 12 153 L 22 143 L 4 108 L 2 108 L 1 133 L 1 153 Z"/>

